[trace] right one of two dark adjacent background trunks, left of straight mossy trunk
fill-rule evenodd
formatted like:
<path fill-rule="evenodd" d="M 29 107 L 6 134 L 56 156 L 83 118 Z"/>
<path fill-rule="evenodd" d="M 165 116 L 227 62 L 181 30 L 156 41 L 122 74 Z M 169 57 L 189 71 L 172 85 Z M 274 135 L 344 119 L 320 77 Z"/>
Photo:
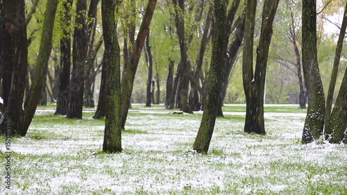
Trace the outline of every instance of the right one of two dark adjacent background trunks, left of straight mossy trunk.
<path fill-rule="evenodd" d="M 69 109 L 67 118 L 83 117 L 83 94 L 85 78 L 85 59 L 87 58 L 87 32 L 84 12 L 87 10 L 87 1 L 77 0 L 76 27 L 74 29 L 74 43 L 72 51 L 72 74 L 69 83 Z M 82 28 L 78 27 L 82 26 Z"/>

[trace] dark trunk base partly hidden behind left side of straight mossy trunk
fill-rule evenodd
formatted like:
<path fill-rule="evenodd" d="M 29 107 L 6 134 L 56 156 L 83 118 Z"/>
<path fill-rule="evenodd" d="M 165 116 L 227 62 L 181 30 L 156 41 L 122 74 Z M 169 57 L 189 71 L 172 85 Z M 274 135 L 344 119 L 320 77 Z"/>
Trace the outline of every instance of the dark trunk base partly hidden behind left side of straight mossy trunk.
<path fill-rule="evenodd" d="M 101 119 L 105 117 L 106 113 L 106 69 L 105 69 L 105 53 L 103 54 L 102 60 L 102 70 L 101 70 L 101 85 L 100 85 L 100 93 L 99 93 L 99 101 L 98 107 L 96 108 L 96 112 L 93 116 L 93 119 Z"/>

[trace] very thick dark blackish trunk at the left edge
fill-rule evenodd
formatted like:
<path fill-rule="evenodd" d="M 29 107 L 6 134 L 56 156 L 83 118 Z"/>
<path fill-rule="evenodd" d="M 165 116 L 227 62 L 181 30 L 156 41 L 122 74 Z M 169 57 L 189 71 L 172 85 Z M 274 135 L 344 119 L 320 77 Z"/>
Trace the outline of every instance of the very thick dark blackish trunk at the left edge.
<path fill-rule="evenodd" d="M 3 1 L 2 10 L 1 44 L 3 44 L 3 51 L 0 55 L 3 66 L 3 106 L 5 118 L 11 120 L 11 133 L 22 135 L 20 124 L 28 71 L 25 1 Z"/>

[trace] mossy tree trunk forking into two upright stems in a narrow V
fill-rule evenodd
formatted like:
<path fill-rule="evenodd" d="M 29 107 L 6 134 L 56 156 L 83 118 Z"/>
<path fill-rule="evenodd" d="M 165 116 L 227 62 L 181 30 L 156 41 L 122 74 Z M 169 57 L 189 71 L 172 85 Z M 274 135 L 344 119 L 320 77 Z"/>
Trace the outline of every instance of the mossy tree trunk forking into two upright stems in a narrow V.
<path fill-rule="evenodd" d="M 260 41 L 257 46 L 257 59 L 253 74 L 253 36 L 255 28 L 255 8 L 257 1 L 248 0 L 244 31 L 244 53 L 242 78 L 246 94 L 246 122 L 244 132 L 265 134 L 264 128 L 264 87 L 266 65 L 272 36 L 272 24 L 276 14 L 278 0 L 264 1 Z"/>

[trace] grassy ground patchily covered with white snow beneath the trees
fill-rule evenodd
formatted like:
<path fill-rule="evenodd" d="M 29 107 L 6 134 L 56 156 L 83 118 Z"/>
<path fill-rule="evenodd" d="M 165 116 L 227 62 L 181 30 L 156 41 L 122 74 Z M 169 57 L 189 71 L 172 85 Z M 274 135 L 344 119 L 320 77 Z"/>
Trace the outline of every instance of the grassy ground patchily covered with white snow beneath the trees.
<path fill-rule="evenodd" d="M 347 146 L 301 144 L 305 114 L 294 105 L 265 107 L 266 135 L 244 134 L 244 105 L 227 105 L 207 154 L 192 150 L 202 115 L 143 106 L 116 154 L 101 152 L 104 120 L 92 110 L 78 120 L 40 108 L 28 135 L 12 137 L 10 190 L 0 138 L 0 194 L 347 194 Z"/>

